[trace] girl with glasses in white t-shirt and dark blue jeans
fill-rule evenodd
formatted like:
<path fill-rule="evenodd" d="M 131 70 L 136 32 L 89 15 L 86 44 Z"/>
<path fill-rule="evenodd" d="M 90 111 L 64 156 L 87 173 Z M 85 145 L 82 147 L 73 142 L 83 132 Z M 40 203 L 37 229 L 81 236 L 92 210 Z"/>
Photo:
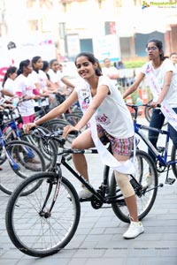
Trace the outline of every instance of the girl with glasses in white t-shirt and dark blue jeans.
<path fill-rule="evenodd" d="M 142 66 L 142 71 L 139 73 L 135 83 L 126 90 L 123 97 L 127 97 L 127 95 L 132 94 L 135 89 L 137 89 L 142 79 L 148 74 L 147 68 L 149 67 L 154 79 L 156 79 L 158 83 L 158 87 L 161 89 L 159 95 L 154 95 L 153 102 L 150 103 L 151 108 L 156 108 L 158 104 L 165 101 L 173 108 L 174 112 L 177 113 L 177 72 L 175 72 L 173 62 L 169 58 L 164 57 L 161 41 L 156 39 L 150 40 L 146 45 L 146 51 L 150 62 Z M 150 127 L 161 129 L 164 120 L 165 116 L 162 111 L 160 109 L 153 109 L 150 118 Z M 169 130 L 173 144 L 177 148 L 177 132 L 170 124 Z M 157 132 L 149 132 L 149 139 L 155 148 L 157 147 L 158 134 Z M 149 153 L 153 160 L 155 160 L 154 155 L 150 151 Z"/>

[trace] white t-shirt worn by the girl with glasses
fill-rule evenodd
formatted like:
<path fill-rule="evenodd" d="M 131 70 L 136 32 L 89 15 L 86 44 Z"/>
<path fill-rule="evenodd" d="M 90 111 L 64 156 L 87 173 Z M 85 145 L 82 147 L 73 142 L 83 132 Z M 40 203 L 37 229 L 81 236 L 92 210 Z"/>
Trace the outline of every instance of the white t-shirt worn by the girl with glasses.
<path fill-rule="evenodd" d="M 169 90 L 167 94 L 165 95 L 165 100 L 171 105 L 171 107 L 177 107 L 177 72 L 174 70 L 173 63 L 170 59 L 166 58 L 164 62 L 158 67 L 157 69 L 154 69 L 152 66 L 152 62 L 148 62 L 142 66 L 141 72 L 146 74 L 146 69 L 148 64 L 152 67 L 152 72 L 156 76 L 158 80 L 158 85 L 162 89 L 165 82 L 165 73 L 172 71 L 173 72 L 173 78 L 169 87 Z M 154 101 L 157 101 L 158 98 L 154 98 Z"/>

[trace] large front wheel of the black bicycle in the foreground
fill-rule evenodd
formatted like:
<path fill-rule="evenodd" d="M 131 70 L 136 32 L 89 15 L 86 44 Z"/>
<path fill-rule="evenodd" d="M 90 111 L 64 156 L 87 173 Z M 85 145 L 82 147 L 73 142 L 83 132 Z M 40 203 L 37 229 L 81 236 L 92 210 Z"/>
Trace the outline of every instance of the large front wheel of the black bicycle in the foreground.
<path fill-rule="evenodd" d="M 60 178 L 59 178 L 60 179 Z M 34 193 L 21 197 L 27 193 L 30 186 L 40 186 Z M 24 254 L 34 257 L 45 257 L 56 254 L 63 249 L 77 230 L 81 204 L 73 185 L 62 177 L 58 198 L 50 215 L 50 208 L 58 178 L 52 172 L 41 172 L 25 179 L 12 193 L 8 201 L 5 215 L 6 229 L 12 243 Z M 43 202 L 50 197 L 42 210 Z M 68 199 L 67 195 L 71 199 Z"/>

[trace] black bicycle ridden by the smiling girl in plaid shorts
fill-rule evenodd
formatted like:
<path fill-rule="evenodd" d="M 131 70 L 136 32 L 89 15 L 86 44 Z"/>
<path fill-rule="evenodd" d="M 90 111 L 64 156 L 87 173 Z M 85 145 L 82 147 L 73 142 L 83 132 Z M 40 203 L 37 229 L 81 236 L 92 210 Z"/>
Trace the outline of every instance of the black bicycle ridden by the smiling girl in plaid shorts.
<path fill-rule="evenodd" d="M 36 129 L 35 129 L 36 130 Z M 39 131 L 38 131 L 39 132 Z M 44 257 L 55 254 L 64 248 L 73 238 L 81 216 L 81 202 L 90 201 L 95 209 L 104 204 L 112 205 L 113 212 L 123 222 L 130 222 L 126 202 L 116 185 L 114 173 L 109 180 L 110 168 L 104 167 L 104 177 L 98 189 L 82 178 L 65 159 L 65 154 L 97 154 L 95 148 L 71 149 L 64 148 L 65 140 L 62 132 L 50 134 L 41 133 L 46 141 L 58 141 L 60 146 L 57 163 L 50 172 L 41 172 L 25 179 L 14 191 L 6 208 L 6 229 L 12 243 L 22 253 Z M 109 147 L 108 147 L 109 148 Z M 135 189 L 138 205 L 138 216 L 142 220 L 150 212 L 158 192 L 158 175 L 150 155 L 137 150 L 135 156 L 135 176 L 130 176 L 130 182 Z M 63 177 L 64 166 L 74 178 L 86 186 L 93 194 L 89 199 L 79 200 L 78 194 L 71 182 Z M 142 181 L 151 170 L 152 184 L 143 187 Z M 33 193 L 21 199 L 21 193 L 37 186 Z"/>

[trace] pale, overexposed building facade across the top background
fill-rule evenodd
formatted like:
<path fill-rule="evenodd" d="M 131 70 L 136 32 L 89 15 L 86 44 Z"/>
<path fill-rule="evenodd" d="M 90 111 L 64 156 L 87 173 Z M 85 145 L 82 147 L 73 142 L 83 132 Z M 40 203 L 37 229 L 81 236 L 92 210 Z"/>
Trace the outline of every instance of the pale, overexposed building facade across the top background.
<path fill-rule="evenodd" d="M 164 43 L 166 55 L 177 51 L 174 0 L 0 0 L 0 14 L 1 43 L 53 43 L 60 59 L 84 50 L 100 60 L 146 57 L 150 38 Z"/>

